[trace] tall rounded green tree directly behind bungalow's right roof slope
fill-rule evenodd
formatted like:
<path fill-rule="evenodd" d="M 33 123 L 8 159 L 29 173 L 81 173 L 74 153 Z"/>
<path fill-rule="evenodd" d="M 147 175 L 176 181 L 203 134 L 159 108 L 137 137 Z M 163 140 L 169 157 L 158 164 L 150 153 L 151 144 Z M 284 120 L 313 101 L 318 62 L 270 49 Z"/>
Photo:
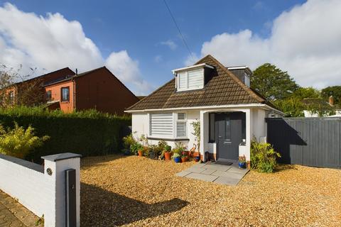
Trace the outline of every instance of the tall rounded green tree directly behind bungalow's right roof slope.
<path fill-rule="evenodd" d="M 286 99 L 299 88 L 288 72 L 283 72 L 270 63 L 265 63 L 254 70 L 251 87 L 272 101 Z"/>

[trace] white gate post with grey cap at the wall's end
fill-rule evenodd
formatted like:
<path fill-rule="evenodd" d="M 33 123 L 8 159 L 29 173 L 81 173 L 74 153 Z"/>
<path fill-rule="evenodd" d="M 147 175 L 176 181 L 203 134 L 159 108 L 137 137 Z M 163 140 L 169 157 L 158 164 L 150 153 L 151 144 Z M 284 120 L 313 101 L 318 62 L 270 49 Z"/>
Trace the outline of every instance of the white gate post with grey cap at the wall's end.
<path fill-rule="evenodd" d="M 41 157 L 45 160 L 44 172 L 50 179 L 47 202 L 53 206 L 44 214 L 45 226 L 80 226 L 80 157 L 74 153 Z"/>

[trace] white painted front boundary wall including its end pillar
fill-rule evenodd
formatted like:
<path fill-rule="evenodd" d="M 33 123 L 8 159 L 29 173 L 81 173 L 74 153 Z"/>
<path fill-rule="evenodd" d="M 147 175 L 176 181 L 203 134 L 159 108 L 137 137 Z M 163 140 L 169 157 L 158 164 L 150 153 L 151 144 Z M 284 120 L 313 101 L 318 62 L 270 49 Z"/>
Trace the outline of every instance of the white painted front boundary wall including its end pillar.
<path fill-rule="evenodd" d="M 53 172 L 48 175 L 46 170 Z M 45 160 L 44 172 L 0 158 L 0 189 L 37 216 L 45 226 L 65 226 L 65 170 L 76 170 L 77 226 L 80 226 L 80 158 Z"/>

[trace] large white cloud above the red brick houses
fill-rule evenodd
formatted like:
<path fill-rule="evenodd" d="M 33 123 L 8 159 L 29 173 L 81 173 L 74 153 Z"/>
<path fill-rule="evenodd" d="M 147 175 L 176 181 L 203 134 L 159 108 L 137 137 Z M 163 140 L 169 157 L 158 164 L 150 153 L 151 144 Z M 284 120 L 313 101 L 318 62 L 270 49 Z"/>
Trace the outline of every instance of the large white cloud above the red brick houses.
<path fill-rule="evenodd" d="M 67 66 L 85 72 L 107 65 L 133 92 L 151 91 L 141 79 L 138 62 L 126 50 L 112 52 L 104 59 L 78 21 L 67 21 L 60 13 L 37 16 L 8 3 L 0 7 L 0 62 L 11 67 L 22 64 L 23 70 L 45 68 L 48 72 Z"/>

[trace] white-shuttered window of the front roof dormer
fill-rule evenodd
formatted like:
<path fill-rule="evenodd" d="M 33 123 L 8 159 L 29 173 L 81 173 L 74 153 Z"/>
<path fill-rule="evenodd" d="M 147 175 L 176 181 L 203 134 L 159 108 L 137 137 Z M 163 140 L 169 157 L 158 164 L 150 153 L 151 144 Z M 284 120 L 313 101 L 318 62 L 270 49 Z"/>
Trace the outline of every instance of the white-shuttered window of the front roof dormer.
<path fill-rule="evenodd" d="M 178 72 L 178 91 L 202 89 L 204 87 L 204 69 Z"/>

